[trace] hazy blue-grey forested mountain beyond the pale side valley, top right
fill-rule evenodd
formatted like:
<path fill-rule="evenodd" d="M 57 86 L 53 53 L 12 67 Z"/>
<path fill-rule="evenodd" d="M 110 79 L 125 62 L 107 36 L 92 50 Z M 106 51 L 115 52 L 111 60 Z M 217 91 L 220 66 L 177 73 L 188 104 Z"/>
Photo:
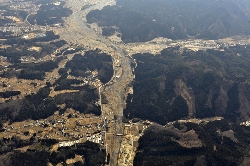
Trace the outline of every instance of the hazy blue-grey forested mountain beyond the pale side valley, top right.
<path fill-rule="evenodd" d="M 116 26 L 124 42 L 159 36 L 217 39 L 249 35 L 249 9 L 247 0 L 118 0 L 117 6 L 92 11 L 87 19 L 104 27 Z"/>

